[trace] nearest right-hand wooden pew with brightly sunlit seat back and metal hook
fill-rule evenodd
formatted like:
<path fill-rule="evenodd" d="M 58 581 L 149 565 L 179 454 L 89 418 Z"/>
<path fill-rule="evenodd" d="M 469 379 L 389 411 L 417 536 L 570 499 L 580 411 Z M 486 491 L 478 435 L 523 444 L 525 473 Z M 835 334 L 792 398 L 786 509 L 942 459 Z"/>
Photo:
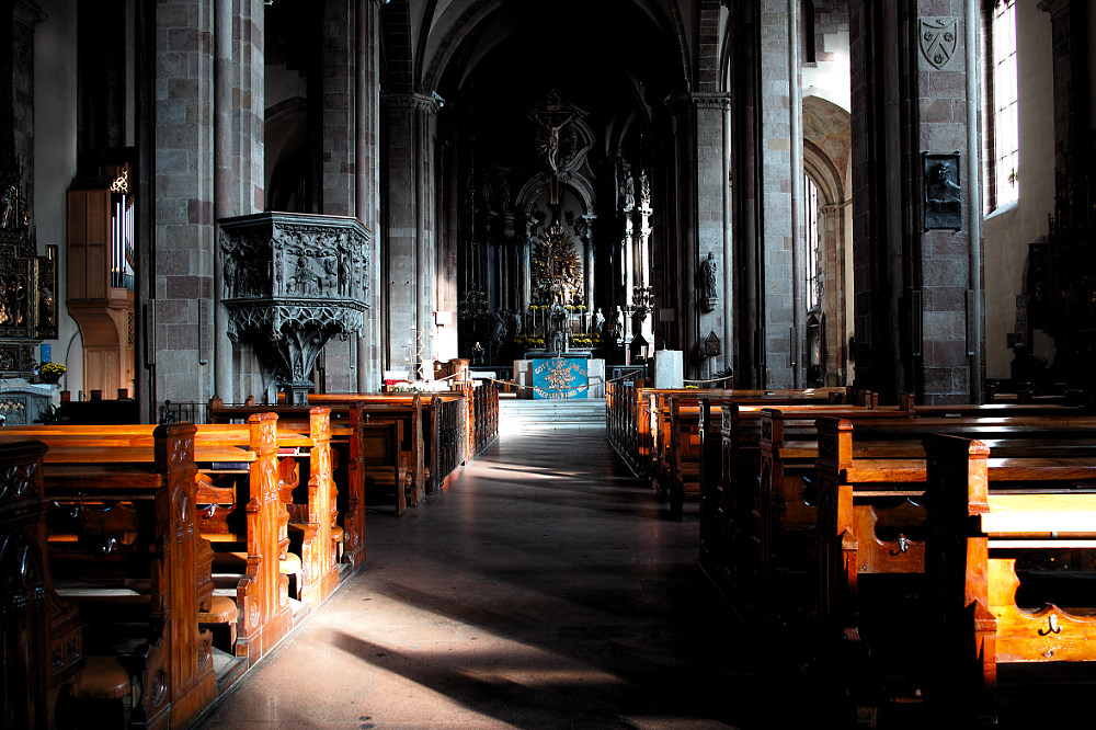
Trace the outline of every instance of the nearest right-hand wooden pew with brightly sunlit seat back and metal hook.
<path fill-rule="evenodd" d="M 937 659 L 926 694 L 950 717 L 970 718 L 992 711 L 998 664 L 1096 661 L 1091 586 L 1083 605 L 1042 596 L 1039 605 L 1021 605 L 1016 570 L 1023 550 L 1096 550 L 1096 461 L 996 458 L 985 444 L 954 435 L 928 437 L 925 448 L 934 586 L 926 613 Z M 994 489 L 1008 470 L 1021 487 Z M 1088 480 L 1087 488 L 1055 489 L 1077 480 Z M 1066 699 L 1058 692 L 1052 698 Z"/>

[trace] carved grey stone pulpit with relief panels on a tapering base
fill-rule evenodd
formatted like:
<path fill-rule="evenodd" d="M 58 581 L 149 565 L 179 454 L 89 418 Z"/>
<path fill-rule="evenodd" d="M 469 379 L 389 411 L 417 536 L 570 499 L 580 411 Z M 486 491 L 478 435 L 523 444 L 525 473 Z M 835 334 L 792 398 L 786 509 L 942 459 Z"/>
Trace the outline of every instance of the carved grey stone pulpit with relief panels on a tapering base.
<path fill-rule="evenodd" d="M 262 213 L 220 221 L 228 337 L 253 344 L 292 403 L 307 402 L 328 341 L 363 330 L 368 241 L 356 218 L 342 216 Z"/>

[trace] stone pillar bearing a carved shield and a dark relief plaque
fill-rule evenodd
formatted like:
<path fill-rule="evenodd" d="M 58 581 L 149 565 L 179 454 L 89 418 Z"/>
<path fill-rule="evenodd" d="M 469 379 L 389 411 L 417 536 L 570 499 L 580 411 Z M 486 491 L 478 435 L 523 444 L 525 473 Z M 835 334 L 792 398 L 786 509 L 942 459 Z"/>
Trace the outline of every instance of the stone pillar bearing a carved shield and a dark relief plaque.
<path fill-rule="evenodd" d="M 881 402 L 903 391 L 925 403 L 977 401 L 977 13 L 958 0 L 854 0 L 849 10 L 856 385 Z M 957 224 L 929 229 L 924 155 L 956 151 Z"/>

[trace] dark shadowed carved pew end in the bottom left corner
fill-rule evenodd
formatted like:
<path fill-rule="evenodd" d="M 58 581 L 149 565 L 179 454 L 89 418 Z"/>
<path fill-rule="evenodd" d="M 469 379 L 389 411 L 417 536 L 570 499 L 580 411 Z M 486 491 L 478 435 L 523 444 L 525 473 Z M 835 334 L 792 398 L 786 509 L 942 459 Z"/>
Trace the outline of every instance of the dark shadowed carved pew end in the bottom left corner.
<path fill-rule="evenodd" d="M 42 442 L 0 444 L 0 636 L 5 728 L 55 727 L 59 689 L 83 664 L 76 604 L 54 590 Z"/>

